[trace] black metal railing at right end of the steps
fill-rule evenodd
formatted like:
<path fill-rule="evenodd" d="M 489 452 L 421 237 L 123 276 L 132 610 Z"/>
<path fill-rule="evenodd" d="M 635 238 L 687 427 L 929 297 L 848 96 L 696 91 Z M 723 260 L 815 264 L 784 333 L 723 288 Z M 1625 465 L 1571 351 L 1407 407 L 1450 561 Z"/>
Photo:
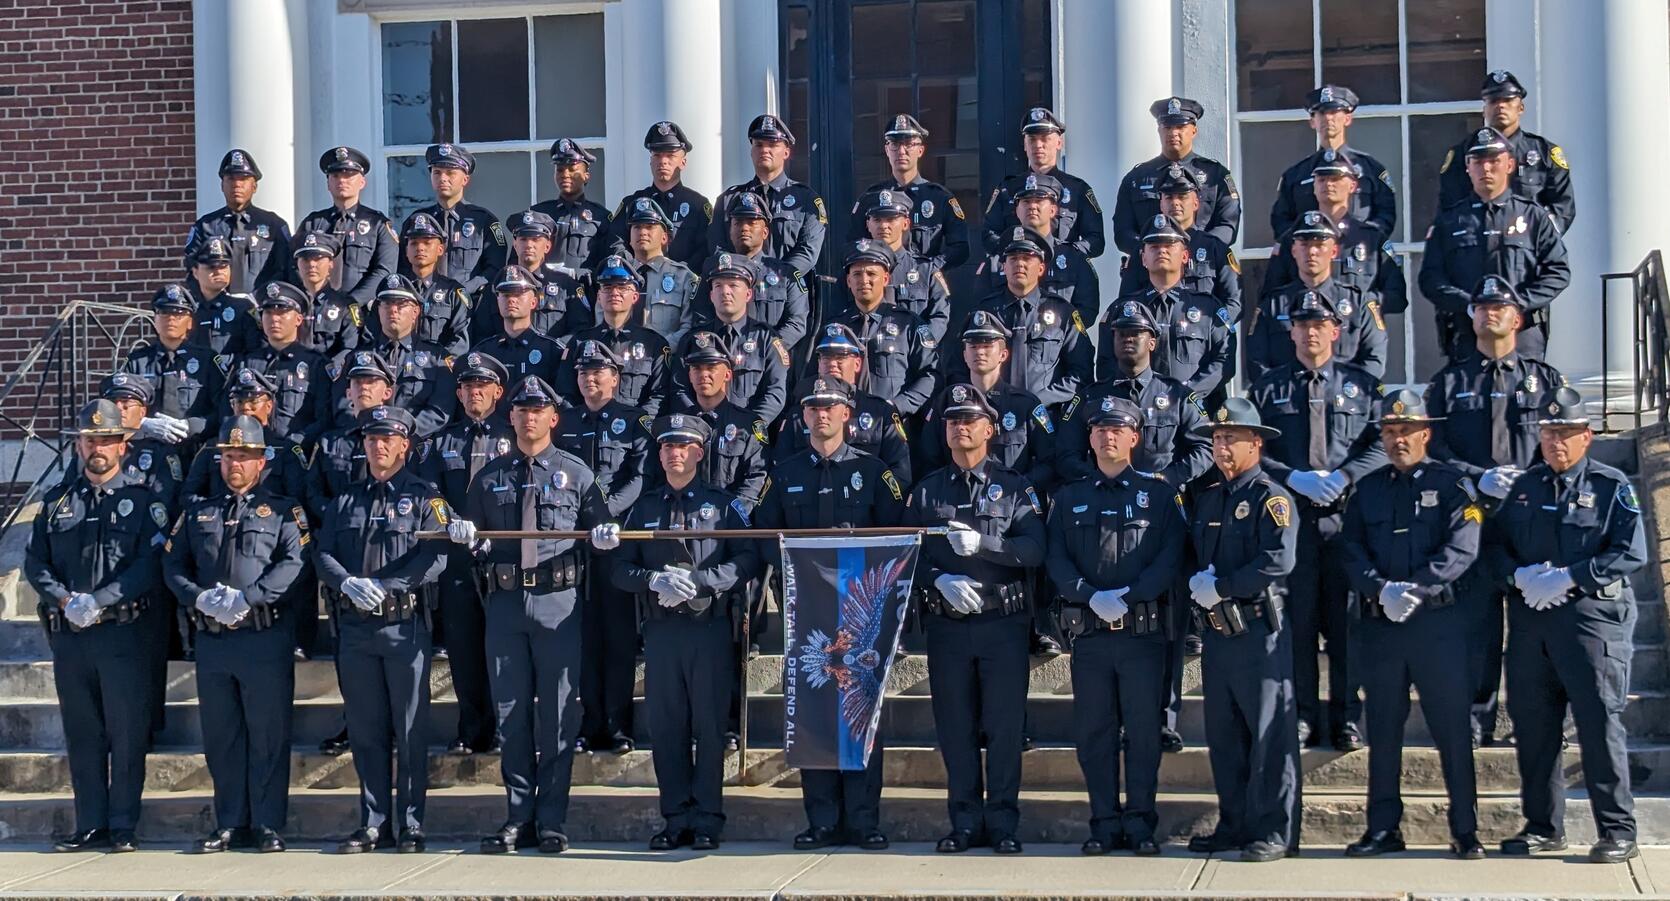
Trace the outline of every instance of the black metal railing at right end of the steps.
<path fill-rule="evenodd" d="M 1635 429 L 1643 420 L 1665 419 L 1670 412 L 1670 289 L 1665 285 L 1665 260 L 1660 250 L 1647 257 L 1632 272 L 1608 272 L 1600 277 L 1600 392 L 1605 430 L 1612 429 L 1612 292 L 1618 287 L 1630 292 L 1633 394 L 1630 410 Z M 1622 360 L 1618 360 L 1622 364 Z"/>

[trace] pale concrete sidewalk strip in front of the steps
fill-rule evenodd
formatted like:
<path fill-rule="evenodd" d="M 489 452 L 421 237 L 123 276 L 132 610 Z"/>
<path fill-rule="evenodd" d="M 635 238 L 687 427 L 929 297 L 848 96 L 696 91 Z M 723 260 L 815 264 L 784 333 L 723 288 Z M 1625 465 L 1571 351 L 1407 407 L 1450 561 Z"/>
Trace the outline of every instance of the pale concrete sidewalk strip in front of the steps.
<path fill-rule="evenodd" d="M 0 849 L 0 894 L 33 898 L 387 896 L 387 898 L 1670 898 L 1670 848 L 1627 866 L 1568 858 L 1455 861 L 1420 849 L 1348 861 L 1334 848 L 1301 859 L 1242 864 L 1167 848 L 1161 858 L 1082 858 L 1077 846 L 1035 844 L 1019 858 L 989 851 L 935 854 L 797 854 L 736 843 L 716 854 L 651 854 L 641 844 L 576 848 L 559 858 L 486 858 L 446 846 L 428 854 L 53 854 Z"/>

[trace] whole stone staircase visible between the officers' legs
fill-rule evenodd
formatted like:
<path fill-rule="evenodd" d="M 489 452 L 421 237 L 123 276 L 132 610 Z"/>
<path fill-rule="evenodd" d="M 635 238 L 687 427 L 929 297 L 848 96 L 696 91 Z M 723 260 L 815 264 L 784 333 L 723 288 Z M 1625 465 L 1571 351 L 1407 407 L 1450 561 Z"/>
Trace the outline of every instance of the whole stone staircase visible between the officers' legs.
<path fill-rule="evenodd" d="M 1610 439 L 1597 447 L 1608 462 L 1635 471 L 1633 439 Z M 1643 462 L 1670 459 L 1662 432 L 1643 437 Z M 1640 467 L 1642 494 L 1652 509 L 1670 509 L 1670 474 L 1658 466 Z M 1650 512 L 1650 511 L 1648 511 Z M 1662 531 L 1652 529 L 1655 567 L 1663 554 Z M 1670 672 L 1667 627 L 1658 586 L 1650 567 L 1637 579 L 1640 617 L 1632 672 L 1630 769 L 1638 798 L 1642 838 L 1670 841 Z M 27 586 L 0 601 L 0 841 L 42 841 L 72 826 L 68 766 L 63 729 L 52 687 L 52 662 L 45 634 L 25 617 L 33 601 Z M 1323 661 L 1326 667 L 1326 659 Z M 641 697 L 643 667 L 638 667 Z M 436 744 L 449 739 L 456 724 L 451 674 L 438 661 L 433 674 L 434 702 L 429 726 Z M 726 761 L 726 838 L 785 841 L 802 828 L 798 774 L 783 766 L 782 656 L 765 654 L 746 667 L 750 751 L 746 773 L 740 756 Z M 1204 747 L 1204 711 L 1199 661 L 1186 671 L 1181 731 L 1187 747 L 1167 754 L 1161 769 L 1161 831 L 1182 838 L 1206 829 L 1216 818 L 1211 766 Z M 1324 677 L 1326 684 L 1326 677 Z M 212 826 L 210 779 L 200 753 L 195 674 L 190 664 L 170 664 L 167 726 L 152 753 L 147 773 L 145 814 L 140 834 L 154 841 L 195 838 Z M 1511 701 L 1510 701 L 1511 702 Z M 641 704 L 641 701 L 640 701 Z M 291 823 L 297 839 L 327 839 L 357 826 L 357 783 L 349 756 L 316 751 L 319 739 L 339 722 L 341 694 L 329 661 L 297 664 L 296 747 L 292 759 Z M 1035 746 L 1024 756 L 1022 838 L 1077 843 L 1087 834 L 1089 804 L 1072 749 L 1072 684 L 1069 659 L 1032 661 L 1027 724 Z M 934 714 L 929 699 L 927 661 L 902 656 L 895 664 L 882 729 L 888 742 L 887 789 L 882 818 L 895 841 L 934 841 L 944 834 L 945 773 L 934 747 Z M 1403 756 L 1404 833 L 1411 843 L 1448 841 L 1445 796 L 1438 756 L 1430 746 L 1420 706 L 1413 706 Z M 625 754 L 583 754 L 574 763 L 574 799 L 569 834 L 576 841 L 643 841 L 658 826 L 655 776 L 643 719 L 640 749 Z M 1304 841 L 1339 846 L 1358 838 L 1364 824 L 1368 753 L 1339 754 L 1311 749 L 1304 764 Z M 1486 841 L 1520 826 L 1518 769 L 1513 749 L 1498 746 L 1476 753 L 1480 824 Z M 1566 754 L 1573 789 L 1568 833 L 1586 841 L 1593 828 L 1581 798 L 1575 744 Z M 431 761 L 428 829 L 436 838 L 469 839 L 496 828 L 504 816 L 498 758 L 446 756 Z"/>

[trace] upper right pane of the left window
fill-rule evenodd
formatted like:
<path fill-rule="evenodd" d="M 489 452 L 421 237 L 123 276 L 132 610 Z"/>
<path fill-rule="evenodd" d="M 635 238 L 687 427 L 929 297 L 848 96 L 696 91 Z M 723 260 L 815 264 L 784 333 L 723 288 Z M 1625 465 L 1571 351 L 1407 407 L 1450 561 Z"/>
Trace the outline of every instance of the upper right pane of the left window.
<path fill-rule="evenodd" d="M 603 13 L 543 15 L 533 20 L 538 138 L 601 137 Z"/>

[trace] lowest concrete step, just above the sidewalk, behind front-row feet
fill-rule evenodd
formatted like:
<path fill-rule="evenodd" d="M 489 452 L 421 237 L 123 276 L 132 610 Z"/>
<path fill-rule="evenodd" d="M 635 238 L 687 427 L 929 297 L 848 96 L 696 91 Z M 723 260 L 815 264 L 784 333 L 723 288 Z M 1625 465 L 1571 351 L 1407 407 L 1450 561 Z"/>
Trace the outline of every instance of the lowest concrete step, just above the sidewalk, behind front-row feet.
<path fill-rule="evenodd" d="M 1363 834 L 1366 801 L 1359 791 L 1308 791 L 1304 796 L 1303 844 L 1338 848 Z M 1480 836 L 1486 843 L 1520 829 L 1518 799 L 1485 794 L 1478 803 Z M 1446 803 L 1435 794 L 1404 794 L 1403 833 L 1413 844 L 1445 844 Z M 145 841 L 187 841 L 207 833 L 212 823 L 207 793 L 172 793 L 145 799 L 139 834 Z M 725 791 L 725 838 L 730 841 L 782 841 L 803 828 L 800 791 L 793 788 L 733 788 Z M 1642 799 L 1638 814 L 1643 841 L 1665 836 L 1670 799 Z M 1209 793 L 1166 793 L 1159 798 L 1159 833 L 1186 838 L 1207 831 L 1217 816 Z M 464 841 L 486 834 L 504 819 L 504 796 L 489 788 L 446 788 L 429 793 L 424 829 L 431 838 Z M 1080 793 L 1025 791 L 1020 799 L 1020 838 L 1030 843 L 1077 843 L 1089 834 L 1089 803 Z M 67 794 L 0 794 L 0 838 L 45 841 L 73 826 Z M 339 838 L 359 826 L 354 789 L 309 789 L 291 793 L 291 821 L 286 834 L 301 841 Z M 564 824 L 576 843 L 645 841 L 661 826 L 655 789 L 574 788 Z M 893 841 L 935 841 L 947 829 L 945 796 L 937 789 L 888 788 L 882 796 L 882 826 Z M 1586 804 L 1570 803 L 1566 834 L 1588 843 L 1593 826 Z M 1171 849 L 1169 853 L 1181 853 Z"/>

